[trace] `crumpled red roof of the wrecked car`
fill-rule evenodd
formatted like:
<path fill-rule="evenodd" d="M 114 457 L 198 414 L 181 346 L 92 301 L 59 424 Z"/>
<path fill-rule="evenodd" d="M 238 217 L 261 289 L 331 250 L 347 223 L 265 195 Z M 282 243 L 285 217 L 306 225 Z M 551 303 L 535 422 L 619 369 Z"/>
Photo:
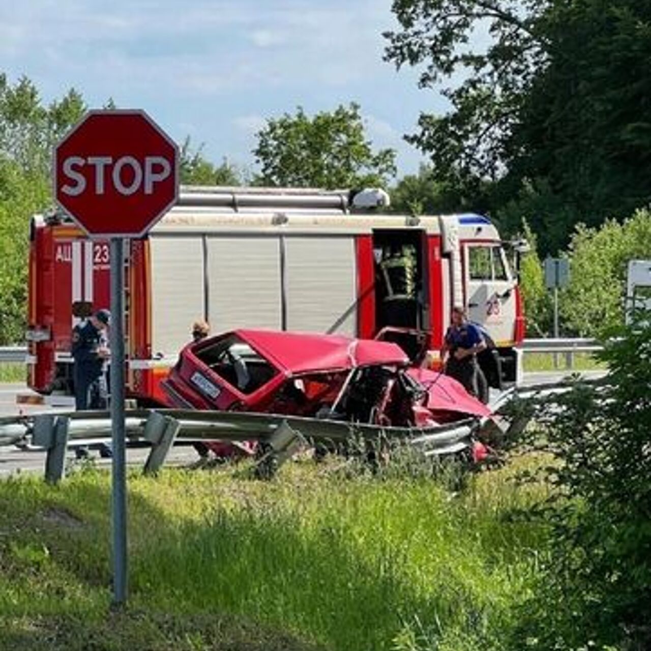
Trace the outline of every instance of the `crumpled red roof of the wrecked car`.
<path fill-rule="evenodd" d="M 290 374 L 409 364 L 402 348 L 389 342 L 268 330 L 235 330 L 234 334 Z"/>

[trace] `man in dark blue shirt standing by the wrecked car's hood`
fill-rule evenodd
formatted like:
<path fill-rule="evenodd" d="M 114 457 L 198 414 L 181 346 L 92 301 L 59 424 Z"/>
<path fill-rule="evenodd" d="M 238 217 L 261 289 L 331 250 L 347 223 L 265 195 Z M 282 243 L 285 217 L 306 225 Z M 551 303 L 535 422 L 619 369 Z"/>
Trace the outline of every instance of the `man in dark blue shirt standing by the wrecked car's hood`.
<path fill-rule="evenodd" d="M 464 385 L 465 390 L 479 397 L 477 353 L 486 348 L 480 329 L 468 322 L 463 307 L 452 308 L 452 324 L 445 333 L 441 350 L 445 374 Z"/>

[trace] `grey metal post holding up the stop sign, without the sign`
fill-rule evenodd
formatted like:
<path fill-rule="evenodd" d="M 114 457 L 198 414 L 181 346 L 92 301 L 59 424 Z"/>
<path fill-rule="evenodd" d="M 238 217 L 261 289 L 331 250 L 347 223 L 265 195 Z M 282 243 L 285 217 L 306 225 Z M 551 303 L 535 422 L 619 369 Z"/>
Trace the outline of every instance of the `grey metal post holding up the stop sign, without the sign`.
<path fill-rule="evenodd" d="M 124 241 L 111 238 L 111 521 L 113 603 L 126 602 L 126 442 L 124 428 Z"/>

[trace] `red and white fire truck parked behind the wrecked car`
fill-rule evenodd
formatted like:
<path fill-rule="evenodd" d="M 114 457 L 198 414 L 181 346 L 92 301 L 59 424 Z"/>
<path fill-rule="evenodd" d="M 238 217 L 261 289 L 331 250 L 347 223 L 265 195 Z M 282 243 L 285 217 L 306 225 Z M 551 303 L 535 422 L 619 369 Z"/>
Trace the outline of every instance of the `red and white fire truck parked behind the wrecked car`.
<path fill-rule="evenodd" d="M 387 200 L 370 190 L 182 187 L 178 204 L 124 247 L 128 395 L 161 402 L 160 381 L 197 319 L 214 333 L 425 333 L 436 368 L 453 305 L 492 342 L 480 359 L 490 385 L 515 381 L 523 306 L 495 226 L 477 214 L 381 214 L 374 206 Z M 109 307 L 109 243 L 61 212 L 35 215 L 29 238 L 29 387 L 70 395 L 72 328 Z"/>

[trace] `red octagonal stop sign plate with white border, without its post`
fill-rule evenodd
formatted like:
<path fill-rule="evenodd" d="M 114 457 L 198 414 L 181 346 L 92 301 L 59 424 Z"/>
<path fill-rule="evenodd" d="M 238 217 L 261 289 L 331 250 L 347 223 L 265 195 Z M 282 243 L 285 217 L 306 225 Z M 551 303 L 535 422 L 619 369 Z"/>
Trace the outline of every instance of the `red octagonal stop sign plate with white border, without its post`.
<path fill-rule="evenodd" d="M 176 202 L 178 148 L 144 111 L 89 111 L 55 149 L 54 193 L 90 236 L 143 236 Z"/>

